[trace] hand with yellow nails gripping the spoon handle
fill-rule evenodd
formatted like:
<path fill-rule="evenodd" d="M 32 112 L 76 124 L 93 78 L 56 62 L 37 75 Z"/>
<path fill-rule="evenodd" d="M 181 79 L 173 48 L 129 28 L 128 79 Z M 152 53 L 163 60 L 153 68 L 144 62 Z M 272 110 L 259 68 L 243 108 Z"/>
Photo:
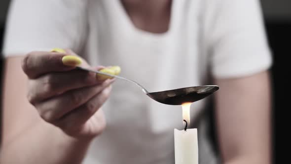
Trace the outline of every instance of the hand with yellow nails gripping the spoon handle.
<path fill-rule="evenodd" d="M 70 136 L 93 138 L 106 126 L 100 108 L 114 79 L 101 81 L 95 73 L 74 69 L 78 64 L 89 67 L 71 50 L 27 54 L 22 68 L 29 78 L 28 100 L 44 121 Z"/>

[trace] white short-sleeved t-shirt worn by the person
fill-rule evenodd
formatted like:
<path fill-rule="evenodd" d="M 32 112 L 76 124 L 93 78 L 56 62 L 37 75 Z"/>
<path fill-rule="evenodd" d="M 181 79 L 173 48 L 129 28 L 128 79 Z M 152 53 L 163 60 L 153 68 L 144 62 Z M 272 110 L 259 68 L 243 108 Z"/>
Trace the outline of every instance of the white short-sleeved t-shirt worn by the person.
<path fill-rule="evenodd" d="M 13 0 L 3 54 L 72 48 L 92 66 L 119 65 L 121 76 L 148 91 L 215 84 L 267 70 L 271 55 L 258 0 L 173 0 L 169 31 L 137 29 L 119 0 Z M 206 100 L 191 106 L 200 164 L 216 164 Z M 116 81 L 103 106 L 107 128 L 84 164 L 174 164 L 180 106 L 160 104 L 131 83 Z M 199 124 L 198 124 L 199 123 Z"/>

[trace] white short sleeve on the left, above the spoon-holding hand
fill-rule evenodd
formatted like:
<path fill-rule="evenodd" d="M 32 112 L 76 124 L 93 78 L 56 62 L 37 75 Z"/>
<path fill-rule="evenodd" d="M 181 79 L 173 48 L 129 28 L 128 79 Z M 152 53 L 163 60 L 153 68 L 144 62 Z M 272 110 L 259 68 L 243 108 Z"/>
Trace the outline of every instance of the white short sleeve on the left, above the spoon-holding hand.
<path fill-rule="evenodd" d="M 86 0 L 12 0 L 3 54 L 48 51 L 53 47 L 78 52 L 86 36 Z"/>

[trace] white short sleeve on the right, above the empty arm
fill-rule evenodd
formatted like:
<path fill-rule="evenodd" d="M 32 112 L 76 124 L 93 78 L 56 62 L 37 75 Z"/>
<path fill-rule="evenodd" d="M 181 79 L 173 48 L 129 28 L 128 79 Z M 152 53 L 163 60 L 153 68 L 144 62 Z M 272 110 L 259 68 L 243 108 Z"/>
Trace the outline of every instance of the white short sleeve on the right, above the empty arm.
<path fill-rule="evenodd" d="M 211 72 L 238 78 L 267 70 L 272 57 L 258 0 L 218 0 L 207 18 Z"/>

